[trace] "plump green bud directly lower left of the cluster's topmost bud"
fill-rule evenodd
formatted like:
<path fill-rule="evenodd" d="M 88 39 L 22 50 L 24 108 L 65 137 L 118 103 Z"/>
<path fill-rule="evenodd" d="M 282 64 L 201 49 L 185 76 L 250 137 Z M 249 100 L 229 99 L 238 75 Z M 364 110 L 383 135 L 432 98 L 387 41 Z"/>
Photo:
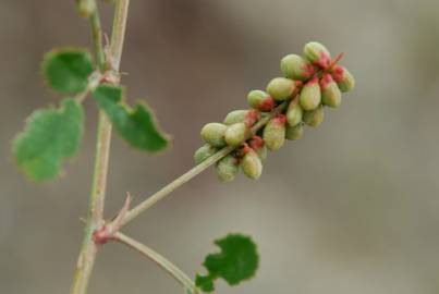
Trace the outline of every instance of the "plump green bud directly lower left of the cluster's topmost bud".
<path fill-rule="evenodd" d="M 280 69 L 288 78 L 298 81 L 307 81 L 316 73 L 316 69 L 309 61 L 296 54 L 282 58 Z"/>

